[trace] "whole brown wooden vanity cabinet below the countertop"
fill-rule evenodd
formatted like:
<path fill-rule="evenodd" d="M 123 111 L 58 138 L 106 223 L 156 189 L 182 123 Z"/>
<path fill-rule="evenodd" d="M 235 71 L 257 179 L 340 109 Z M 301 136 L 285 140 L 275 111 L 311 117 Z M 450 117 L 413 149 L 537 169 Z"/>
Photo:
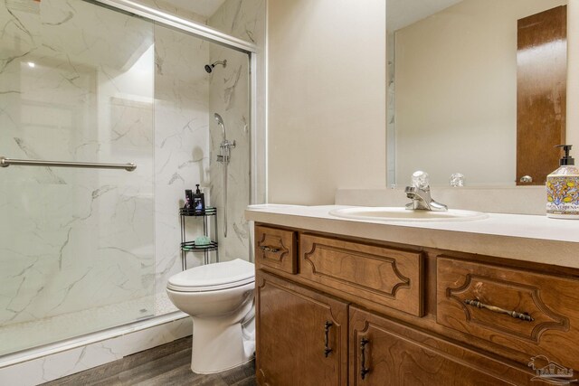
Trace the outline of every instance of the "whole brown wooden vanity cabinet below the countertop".
<path fill-rule="evenodd" d="M 256 235 L 256 253 L 278 249 L 256 257 L 260 385 L 539 386 L 547 383 L 529 367 L 538 355 L 579 367 L 577 270 L 564 278 L 562 269 L 266 224 Z M 292 251 L 291 266 L 277 263 Z"/>

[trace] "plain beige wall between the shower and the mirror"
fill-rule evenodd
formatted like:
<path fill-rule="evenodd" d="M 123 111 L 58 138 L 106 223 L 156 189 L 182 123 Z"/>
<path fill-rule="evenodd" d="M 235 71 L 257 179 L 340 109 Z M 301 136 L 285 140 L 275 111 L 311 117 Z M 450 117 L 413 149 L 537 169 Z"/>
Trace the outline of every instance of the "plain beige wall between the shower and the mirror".
<path fill-rule="evenodd" d="M 385 1 L 270 0 L 269 202 L 385 185 Z"/>

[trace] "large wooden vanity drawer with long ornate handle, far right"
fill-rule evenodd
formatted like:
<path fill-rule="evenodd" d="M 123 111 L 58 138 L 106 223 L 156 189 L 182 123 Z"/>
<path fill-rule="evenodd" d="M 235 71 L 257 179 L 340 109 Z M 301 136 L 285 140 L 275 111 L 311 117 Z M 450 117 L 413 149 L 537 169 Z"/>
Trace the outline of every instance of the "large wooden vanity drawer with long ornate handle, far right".
<path fill-rule="evenodd" d="M 579 369 L 579 280 L 441 256 L 436 320 Z M 529 357 L 529 361 L 531 358 Z"/>

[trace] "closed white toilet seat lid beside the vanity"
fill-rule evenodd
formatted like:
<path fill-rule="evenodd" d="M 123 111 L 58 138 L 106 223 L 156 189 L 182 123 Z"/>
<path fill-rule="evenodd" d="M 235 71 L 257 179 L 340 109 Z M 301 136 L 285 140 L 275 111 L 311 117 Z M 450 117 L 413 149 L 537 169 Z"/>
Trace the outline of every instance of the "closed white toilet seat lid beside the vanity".
<path fill-rule="evenodd" d="M 255 281 L 255 266 L 242 259 L 189 268 L 171 278 L 167 288 L 200 292 L 239 287 Z"/>

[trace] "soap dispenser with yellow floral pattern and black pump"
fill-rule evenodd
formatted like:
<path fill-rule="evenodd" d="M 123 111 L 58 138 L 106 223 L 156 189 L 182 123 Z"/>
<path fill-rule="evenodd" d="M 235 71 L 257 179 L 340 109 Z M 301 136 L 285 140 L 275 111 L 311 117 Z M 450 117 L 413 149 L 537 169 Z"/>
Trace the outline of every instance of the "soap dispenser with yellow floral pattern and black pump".
<path fill-rule="evenodd" d="M 579 169 L 569 156 L 572 145 L 563 147 L 560 167 L 546 176 L 546 215 L 554 219 L 579 219 Z"/>

